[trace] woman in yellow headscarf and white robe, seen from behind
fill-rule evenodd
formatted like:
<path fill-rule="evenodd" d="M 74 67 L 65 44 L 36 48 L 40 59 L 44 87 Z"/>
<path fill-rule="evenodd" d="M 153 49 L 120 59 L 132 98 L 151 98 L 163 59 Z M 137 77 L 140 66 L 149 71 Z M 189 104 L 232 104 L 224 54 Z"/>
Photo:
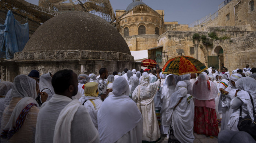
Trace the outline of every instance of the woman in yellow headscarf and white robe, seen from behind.
<path fill-rule="evenodd" d="M 102 100 L 98 97 L 98 83 L 88 82 L 84 84 L 84 95 L 79 99 L 89 112 L 95 128 L 98 129 L 97 113 L 101 108 Z"/>

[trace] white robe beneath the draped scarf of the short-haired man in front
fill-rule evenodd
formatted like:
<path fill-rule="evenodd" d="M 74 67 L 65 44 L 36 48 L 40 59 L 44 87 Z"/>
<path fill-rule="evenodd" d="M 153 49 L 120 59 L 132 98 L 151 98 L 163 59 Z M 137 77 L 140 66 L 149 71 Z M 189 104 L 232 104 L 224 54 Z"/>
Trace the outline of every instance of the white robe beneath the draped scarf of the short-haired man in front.
<path fill-rule="evenodd" d="M 70 102 L 71 98 L 54 94 L 53 97 L 45 102 L 37 117 L 35 131 L 35 143 L 52 143 L 56 121 L 62 109 Z M 79 105 L 74 119 L 71 123 L 71 142 L 99 142 L 97 129 L 94 127 L 91 117 L 83 105 Z"/>

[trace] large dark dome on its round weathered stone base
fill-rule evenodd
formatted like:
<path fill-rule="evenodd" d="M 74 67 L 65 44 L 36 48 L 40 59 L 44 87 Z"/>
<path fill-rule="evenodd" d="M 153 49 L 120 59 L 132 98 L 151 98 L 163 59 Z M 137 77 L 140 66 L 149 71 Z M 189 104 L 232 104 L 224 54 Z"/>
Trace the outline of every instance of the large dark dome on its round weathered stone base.
<path fill-rule="evenodd" d="M 76 74 L 109 73 L 124 68 L 140 70 L 129 47 L 116 29 L 99 16 L 68 12 L 49 19 L 30 38 L 14 59 L 0 60 L 1 80 L 13 81 L 33 69 L 40 74 L 72 69 Z"/>

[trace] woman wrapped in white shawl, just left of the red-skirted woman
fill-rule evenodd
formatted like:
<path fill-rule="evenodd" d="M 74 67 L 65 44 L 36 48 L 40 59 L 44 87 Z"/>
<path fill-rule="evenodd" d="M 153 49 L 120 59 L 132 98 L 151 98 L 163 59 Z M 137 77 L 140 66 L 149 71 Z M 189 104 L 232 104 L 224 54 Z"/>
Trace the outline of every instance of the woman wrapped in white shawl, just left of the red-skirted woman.
<path fill-rule="evenodd" d="M 181 143 L 193 143 L 194 101 L 193 96 L 187 94 L 187 84 L 179 81 L 175 92 L 170 96 L 166 111 L 167 122 L 171 123 L 173 134 Z"/>

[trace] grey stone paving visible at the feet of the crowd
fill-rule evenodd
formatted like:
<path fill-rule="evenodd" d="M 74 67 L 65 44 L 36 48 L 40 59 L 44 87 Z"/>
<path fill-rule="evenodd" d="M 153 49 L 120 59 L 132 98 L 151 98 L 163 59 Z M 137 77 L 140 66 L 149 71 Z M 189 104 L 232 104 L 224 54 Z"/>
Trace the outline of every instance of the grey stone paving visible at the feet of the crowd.
<path fill-rule="evenodd" d="M 221 127 L 219 126 L 219 131 L 220 131 Z M 207 137 L 206 135 L 197 135 L 196 133 L 194 133 L 195 136 L 195 140 L 194 143 L 218 143 L 218 139 L 216 136 L 214 136 L 213 139 L 211 139 L 210 137 Z M 168 139 L 164 139 L 165 137 L 162 136 L 161 140 L 158 143 L 168 143 Z"/>

